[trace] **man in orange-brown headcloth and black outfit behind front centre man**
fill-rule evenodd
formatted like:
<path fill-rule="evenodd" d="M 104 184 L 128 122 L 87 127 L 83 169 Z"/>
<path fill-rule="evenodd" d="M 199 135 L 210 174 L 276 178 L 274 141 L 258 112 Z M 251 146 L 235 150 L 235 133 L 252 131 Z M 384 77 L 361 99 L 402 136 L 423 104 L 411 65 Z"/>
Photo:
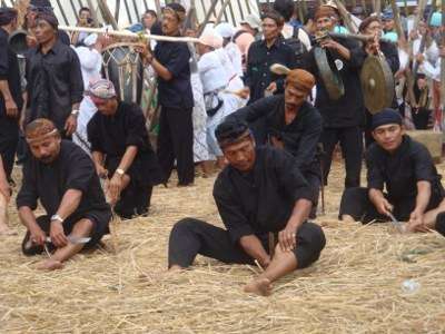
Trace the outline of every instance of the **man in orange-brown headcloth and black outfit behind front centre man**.
<path fill-rule="evenodd" d="M 291 70 L 286 77 L 284 95 L 259 99 L 238 109 L 227 119 L 251 124 L 265 118 L 267 141 L 295 157 L 296 167 L 314 191 L 314 198 L 318 199 L 322 175 L 316 153 L 323 119 L 318 110 L 307 101 L 314 85 L 312 73 L 301 69 Z M 317 202 L 314 203 L 314 213 L 316 205 Z"/>

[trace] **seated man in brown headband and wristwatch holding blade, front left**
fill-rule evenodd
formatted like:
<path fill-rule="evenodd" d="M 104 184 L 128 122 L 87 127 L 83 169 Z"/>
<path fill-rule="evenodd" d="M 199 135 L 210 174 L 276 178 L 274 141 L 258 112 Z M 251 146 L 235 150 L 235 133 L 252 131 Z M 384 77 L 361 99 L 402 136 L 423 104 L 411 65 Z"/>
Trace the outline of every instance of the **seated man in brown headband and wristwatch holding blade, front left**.
<path fill-rule="evenodd" d="M 28 228 L 22 250 L 36 255 L 44 249 L 50 256 L 56 249 L 39 268 L 58 269 L 108 233 L 111 209 L 90 157 L 76 144 L 61 140 L 52 121 L 33 120 L 24 136 L 32 157 L 23 167 L 17 196 L 19 217 Z M 47 215 L 36 218 L 38 199 Z"/>

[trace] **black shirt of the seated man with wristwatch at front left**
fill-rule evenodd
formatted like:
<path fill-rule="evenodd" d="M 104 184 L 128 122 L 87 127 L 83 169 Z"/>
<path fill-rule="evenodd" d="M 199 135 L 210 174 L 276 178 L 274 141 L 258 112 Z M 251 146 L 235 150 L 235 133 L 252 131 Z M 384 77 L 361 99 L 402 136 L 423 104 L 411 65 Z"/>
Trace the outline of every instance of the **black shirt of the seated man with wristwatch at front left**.
<path fill-rule="evenodd" d="M 68 189 L 82 191 L 79 207 L 72 215 L 110 210 L 91 158 L 76 144 L 62 140 L 59 156 L 51 164 L 40 163 L 34 157 L 27 160 L 17 207 L 28 206 L 34 210 L 40 199 L 47 214 L 52 216 Z"/>

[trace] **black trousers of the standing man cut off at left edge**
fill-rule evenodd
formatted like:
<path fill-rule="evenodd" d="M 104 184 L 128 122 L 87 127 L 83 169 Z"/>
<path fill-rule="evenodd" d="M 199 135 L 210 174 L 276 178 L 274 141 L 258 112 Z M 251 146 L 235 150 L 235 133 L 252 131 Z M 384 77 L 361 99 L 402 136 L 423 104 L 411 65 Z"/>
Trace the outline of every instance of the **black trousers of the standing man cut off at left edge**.
<path fill-rule="evenodd" d="M 8 179 L 11 178 L 18 143 L 19 124 L 17 119 L 4 115 L 0 116 L 0 155 Z"/>

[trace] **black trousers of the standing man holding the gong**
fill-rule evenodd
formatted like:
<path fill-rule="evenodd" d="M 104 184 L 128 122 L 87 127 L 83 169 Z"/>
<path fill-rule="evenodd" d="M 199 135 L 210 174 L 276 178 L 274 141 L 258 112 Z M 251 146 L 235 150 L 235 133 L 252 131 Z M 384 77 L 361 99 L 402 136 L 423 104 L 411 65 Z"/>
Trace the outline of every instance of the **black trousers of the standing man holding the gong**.
<path fill-rule="evenodd" d="M 363 130 L 358 126 L 325 128 L 322 132 L 322 143 L 326 153 L 323 161 L 325 185 L 327 185 L 335 146 L 339 143 L 346 167 L 345 188 L 358 187 L 363 158 Z"/>

